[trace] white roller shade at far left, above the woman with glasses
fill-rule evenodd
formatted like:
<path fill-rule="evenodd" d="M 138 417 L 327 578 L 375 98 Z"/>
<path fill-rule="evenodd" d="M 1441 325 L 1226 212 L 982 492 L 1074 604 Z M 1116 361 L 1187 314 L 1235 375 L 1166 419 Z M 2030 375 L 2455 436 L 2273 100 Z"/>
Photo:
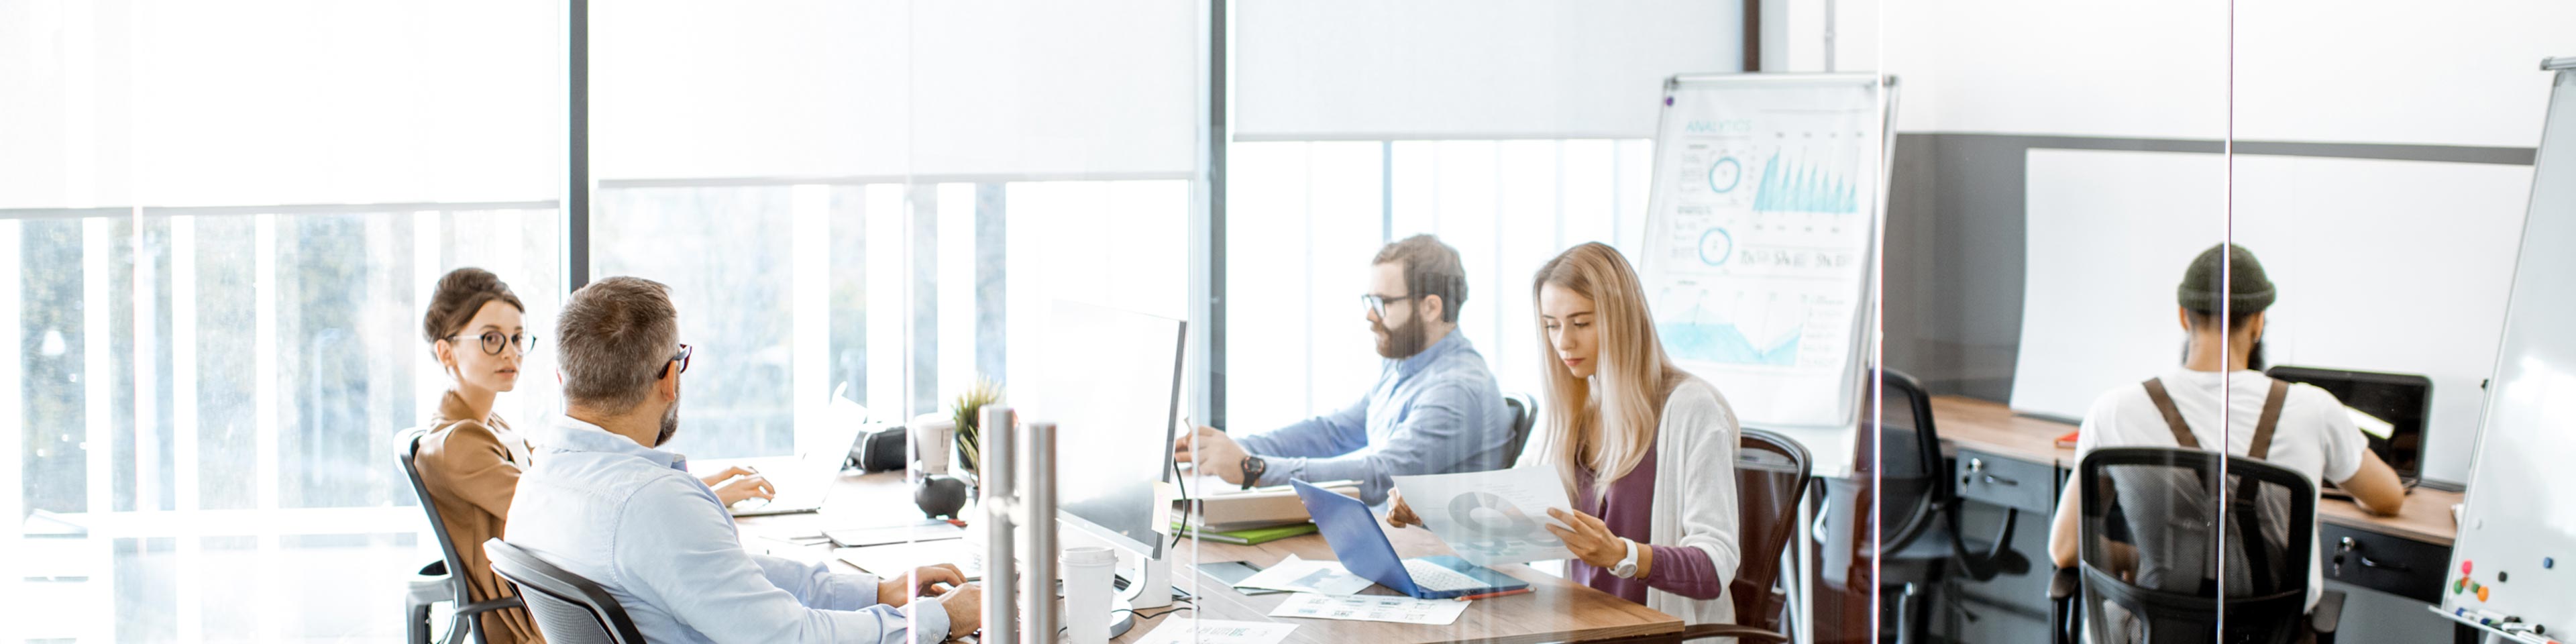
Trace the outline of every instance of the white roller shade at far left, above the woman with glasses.
<path fill-rule="evenodd" d="M 546 201 L 551 3 L 0 3 L 0 209 Z"/>

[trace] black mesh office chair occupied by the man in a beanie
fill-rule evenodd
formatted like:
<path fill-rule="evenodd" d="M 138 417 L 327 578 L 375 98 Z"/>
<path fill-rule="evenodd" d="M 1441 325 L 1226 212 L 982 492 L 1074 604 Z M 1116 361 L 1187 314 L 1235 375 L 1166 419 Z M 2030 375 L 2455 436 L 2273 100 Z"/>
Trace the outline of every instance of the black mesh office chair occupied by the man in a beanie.
<path fill-rule="evenodd" d="M 2306 611 L 2316 484 L 2257 459 L 2226 456 L 2223 464 L 2197 448 L 2084 456 L 2071 482 L 2081 502 L 2079 564 L 2058 569 L 2048 587 L 2053 641 L 2076 644 L 2089 631 L 2097 644 L 2213 636 L 2334 644 L 2344 592 L 2326 590 L 2316 611 Z"/>

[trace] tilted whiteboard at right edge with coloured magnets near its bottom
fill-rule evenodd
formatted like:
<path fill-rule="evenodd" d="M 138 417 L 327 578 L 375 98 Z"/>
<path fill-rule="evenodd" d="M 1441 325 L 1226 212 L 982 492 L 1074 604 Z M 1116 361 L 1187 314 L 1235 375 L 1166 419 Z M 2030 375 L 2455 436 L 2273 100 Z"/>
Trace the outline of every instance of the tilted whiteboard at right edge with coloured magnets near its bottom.
<path fill-rule="evenodd" d="M 2442 587 L 2442 611 L 2517 616 L 2561 639 L 2576 629 L 2576 479 L 2563 474 L 2576 461 L 2576 252 L 2568 250 L 2576 250 L 2576 70 L 2555 75 L 2532 162 L 2504 345 Z M 2455 585 L 2488 595 L 2452 592 Z"/>

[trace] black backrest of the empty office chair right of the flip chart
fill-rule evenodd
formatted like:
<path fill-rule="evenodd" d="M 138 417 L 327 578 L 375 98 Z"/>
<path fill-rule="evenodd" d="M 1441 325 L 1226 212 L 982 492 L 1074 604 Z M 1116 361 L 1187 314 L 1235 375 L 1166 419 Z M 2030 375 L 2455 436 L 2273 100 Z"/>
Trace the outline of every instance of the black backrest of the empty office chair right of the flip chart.
<path fill-rule="evenodd" d="M 1878 551 L 1901 551 L 1958 497 L 1932 425 L 1932 394 L 1896 368 L 1880 371 L 1878 389 Z"/>

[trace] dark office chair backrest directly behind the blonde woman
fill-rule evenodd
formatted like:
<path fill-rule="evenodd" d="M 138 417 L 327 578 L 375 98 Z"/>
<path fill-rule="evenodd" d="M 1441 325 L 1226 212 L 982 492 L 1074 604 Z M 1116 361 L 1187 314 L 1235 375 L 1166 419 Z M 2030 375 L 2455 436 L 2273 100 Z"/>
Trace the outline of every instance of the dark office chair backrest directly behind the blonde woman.
<path fill-rule="evenodd" d="M 1726 590 L 1736 600 L 1736 623 L 1780 631 L 1788 595 L 1780 582 L 1780 554 L 1798 538 L 1798 505 L 1806 502 L 1811 459 L 1806 446 L 1767 430 L 1744 430 L 1736 448 L 1736 526 L 1744 559 Z"/>

